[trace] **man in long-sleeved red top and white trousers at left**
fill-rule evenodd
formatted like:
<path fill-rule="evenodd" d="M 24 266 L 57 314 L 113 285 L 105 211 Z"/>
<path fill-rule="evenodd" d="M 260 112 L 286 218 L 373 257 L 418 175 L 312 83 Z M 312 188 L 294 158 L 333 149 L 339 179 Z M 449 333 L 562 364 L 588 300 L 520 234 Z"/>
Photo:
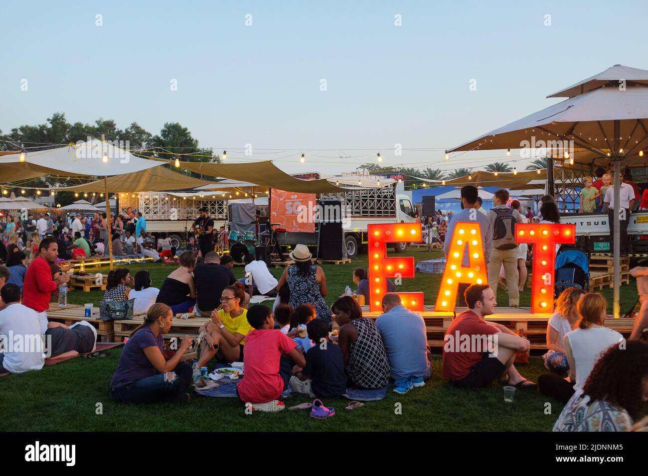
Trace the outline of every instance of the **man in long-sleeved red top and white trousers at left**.
<path fill-rule="evenodd" d="M 47 313 L 49 299 L 52 291 L 70 277 L 65 273 L 56 273 L 52 279 L 51 263 L 58 257 L 58 244 L 53 238 L 45 238 L 38 245 L 38 256 L 27 267 L 23 280 L 23 305 L 32 308 L 38 313 L 41 323 L 41 332 L 47 330 Z"/>

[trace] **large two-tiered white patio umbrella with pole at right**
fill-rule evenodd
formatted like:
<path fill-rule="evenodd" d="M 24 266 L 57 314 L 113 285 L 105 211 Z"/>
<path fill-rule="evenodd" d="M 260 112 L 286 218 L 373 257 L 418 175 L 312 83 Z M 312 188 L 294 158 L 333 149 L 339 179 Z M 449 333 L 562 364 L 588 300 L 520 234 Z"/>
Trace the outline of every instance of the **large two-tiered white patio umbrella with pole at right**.
<path fill-rule="evenodd" d="M 545 148 L 560 151 L 564 166 L 614 164 L 614 203 L 619 203 L 621 163 L 643 163 L 648 148 L 648 71 L 614 65 L 548 97 L 567 97 L 447 150 Z M 542 142 L 540 142 L 542 141 Z M 573 141 L 573 142 L 570 142 Z M 573 144 L 573 150 L 569 150 Z M 532 151 L 533 152 L 533 151 Z M 614 317 L 619 317 L 619 216 L 614 217 Z"/>

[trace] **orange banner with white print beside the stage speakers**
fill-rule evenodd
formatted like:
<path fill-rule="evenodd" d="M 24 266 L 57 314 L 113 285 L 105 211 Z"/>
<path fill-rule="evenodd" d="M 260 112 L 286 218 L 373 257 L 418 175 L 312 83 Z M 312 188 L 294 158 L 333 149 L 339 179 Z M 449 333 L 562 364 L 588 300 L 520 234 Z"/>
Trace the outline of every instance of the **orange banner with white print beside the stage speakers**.
<path fill-rule="evenodd" d="M 298 194 L 272 188 L 270 191 L 270 221 L 280 223 L 289 232 L 315 232 L 315 194 Z"/>

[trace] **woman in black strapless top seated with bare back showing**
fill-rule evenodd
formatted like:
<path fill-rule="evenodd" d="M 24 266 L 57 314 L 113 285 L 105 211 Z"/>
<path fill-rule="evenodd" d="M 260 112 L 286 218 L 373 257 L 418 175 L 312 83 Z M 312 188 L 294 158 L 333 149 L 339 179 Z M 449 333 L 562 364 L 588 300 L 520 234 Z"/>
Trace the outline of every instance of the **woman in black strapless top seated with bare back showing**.
<path fill-rule="evenodd" d="M 180 267 L 172 271 L 162 283 L 156 302 L 163 302 L 174 314 L 188 312 L 196 304 L 196 285 L 194 267 L 196 255 L 185 251 L 179 256 Z"/>

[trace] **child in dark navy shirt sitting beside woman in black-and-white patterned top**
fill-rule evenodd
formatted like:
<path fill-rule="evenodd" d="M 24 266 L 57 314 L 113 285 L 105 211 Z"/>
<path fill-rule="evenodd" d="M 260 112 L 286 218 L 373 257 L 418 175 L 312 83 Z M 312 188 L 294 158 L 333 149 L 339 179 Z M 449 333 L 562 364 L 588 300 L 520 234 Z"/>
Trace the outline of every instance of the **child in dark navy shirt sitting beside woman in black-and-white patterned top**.
<path fill-rule="evenodd" d="M 314 319 L 307 326 L 308 335 L 315 341 L 306 353 L 306 366 L 293 368 L 290 389 L 317 398 L 332 398 L 345 394 L 347 376 L 340 346 L 329 341 L 329 323 Z"/>

